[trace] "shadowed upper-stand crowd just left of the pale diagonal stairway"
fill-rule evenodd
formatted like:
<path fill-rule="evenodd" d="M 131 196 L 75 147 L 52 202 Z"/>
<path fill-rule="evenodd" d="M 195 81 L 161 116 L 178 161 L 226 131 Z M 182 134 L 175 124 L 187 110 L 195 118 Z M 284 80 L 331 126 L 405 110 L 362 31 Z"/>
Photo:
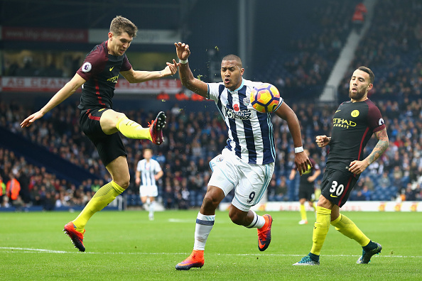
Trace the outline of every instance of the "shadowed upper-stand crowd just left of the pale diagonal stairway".
<path fill-rule="evenodd" d="M 258 79 L 275 84 L 285 99 L 318 99 L 347 35 L 359 1 L 328 0 L 307 16 L 312 32 L 298 31 L 286 46 L 278 46 Z"/>

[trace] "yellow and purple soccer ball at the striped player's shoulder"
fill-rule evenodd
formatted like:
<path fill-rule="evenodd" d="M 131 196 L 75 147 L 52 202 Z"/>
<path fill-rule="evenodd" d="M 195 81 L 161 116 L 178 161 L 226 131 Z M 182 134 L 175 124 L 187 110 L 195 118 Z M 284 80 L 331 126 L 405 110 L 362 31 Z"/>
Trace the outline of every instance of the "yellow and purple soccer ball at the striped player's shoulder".
<path fill-rule="evenodd" d="M 273 112 L 280 103 L 278 89 L 269 83 L 254 87 L 251 92 L 251 106 L 261 113 Z"/>

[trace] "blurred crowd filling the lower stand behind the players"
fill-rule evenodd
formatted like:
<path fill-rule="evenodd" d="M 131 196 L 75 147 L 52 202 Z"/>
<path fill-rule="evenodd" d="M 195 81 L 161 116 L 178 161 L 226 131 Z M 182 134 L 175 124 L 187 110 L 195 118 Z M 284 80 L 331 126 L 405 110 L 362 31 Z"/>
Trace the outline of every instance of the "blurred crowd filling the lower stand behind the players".
<path fill-rule="evenodd" d="M 370 165 L 362 174 L 359 184 L 351 194 L 352 200 L 421 200 L 422 199 L 422 99 L 403 102 L 389 101 L 378 104 L 386 123 L 391 144 L 382 158 Z M 301 122 L 304 147 L 310 156 L 325 167 L 326 149 L 315 145 L 315 136 L 330 135 L 332 106 L 315 104 L 291 104 Z M 1 126 L 22 134 L 28 141 L 38 143 L 50 153 L 60 155 L 75 165 L 90 170 L 93 177 L 80 184 L 61 180 L 26 163 L 24 156 L 17 157 L 13 151 L 0 150 L 0 175 L 6 184 L 15 178 L 21 184 L 20 198 L 13 204 L 33 204 L 53 209 L 54 206 L 83 205 L 92 197 L 110 176 L 102 165 L 94 146 L 80 132 L 77 125 L 79 111 L 72 104 L 63 104 L 59 109 L 37 121 L 33 126 L 21 129 L 18 125 L 33 109 L 23 108 L 17 103 L 0 103 Z M 158 111 L 159 109 L 156 109 Z M 155 113 L 144 110 L 127 111 L 126 115 L 146 126 Z M 124 138 L 131 172 L 131 184 L 124 192 L 128 206 L 139 206 L 139 187 L 134 183 L 136 164 L 141 160 L 141 151 L 152 148 L 154 157 L 161 164 L 164 176 L 159 182 L 159 197 L 167 209 L 188 209 L 200 206 L 207 188 L 211 171 L 208 165 L 226 145 L 227 130 L 217 111 L 186 113 L 175 104 L 166 112 L 167 126 L 165 142 L 152 145 L 150 141 Z M 273 116 L 276 139 L 276 168 L 268 188 L 269 201 L 296 201 L 298 176 L 293 181 L 288 175 L 293 168 L 293 143 L 285 121 Z M 367 145 L 369 153 L 376 139 Z M 322 175 L 317 180 L 320 183 Z M 6 192 L 7 193 L 7 192 Z M 9 192 L 11 193 L 11 192 Z M 3 197 L 4 199 L 5 197 Z M 230 202 L 232 194 L 224 199 Z M 4 205 L 11 204 L 4 202 Z"/>

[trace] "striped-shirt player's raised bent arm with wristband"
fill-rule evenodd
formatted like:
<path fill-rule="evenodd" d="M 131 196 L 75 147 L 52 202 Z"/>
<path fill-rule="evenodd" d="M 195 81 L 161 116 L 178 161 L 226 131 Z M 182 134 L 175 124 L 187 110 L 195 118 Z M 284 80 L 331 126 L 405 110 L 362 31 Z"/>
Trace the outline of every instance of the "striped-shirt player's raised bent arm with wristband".
<path fill-rule="evenodd" d="M 193 73 L 190 70 L 188 57 L 190 55 L 189 45 L 185 43 L 174 43 L 176 48 L 176 53 L 180 60 L 179 63 L 179 75 L 180 81 L 183 86 L 190 89 L 190 91 L 195 92 L 196 94 L 201 95 L 202 97 L 207 97 L 208 94 L 208 85 L 205 82 L 202 82 L 200 79 L 193 77 Z M 183 63 L 185 61 L 185 63 Z"/>

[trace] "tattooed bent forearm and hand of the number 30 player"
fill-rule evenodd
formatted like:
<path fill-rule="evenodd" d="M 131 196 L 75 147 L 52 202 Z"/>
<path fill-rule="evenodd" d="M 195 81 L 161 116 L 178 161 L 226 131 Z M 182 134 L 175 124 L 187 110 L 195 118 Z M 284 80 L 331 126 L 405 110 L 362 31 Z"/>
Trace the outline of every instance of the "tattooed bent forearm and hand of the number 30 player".
<path fill-rule="evenodd" d="M 377 145 L 375 145 L 374 149 L 372 150 L 371 154 L 368 155 L 362 161 L 354 160 L 350 162 L 349 171 L 355 175 L 361 174 L 372 162 L 377 160 L 382 153 L 389 147 L 389 136 L 387 136 L 386 129 L 382 129 L 375 133 L 375 136 L 378 139 Z"/>

